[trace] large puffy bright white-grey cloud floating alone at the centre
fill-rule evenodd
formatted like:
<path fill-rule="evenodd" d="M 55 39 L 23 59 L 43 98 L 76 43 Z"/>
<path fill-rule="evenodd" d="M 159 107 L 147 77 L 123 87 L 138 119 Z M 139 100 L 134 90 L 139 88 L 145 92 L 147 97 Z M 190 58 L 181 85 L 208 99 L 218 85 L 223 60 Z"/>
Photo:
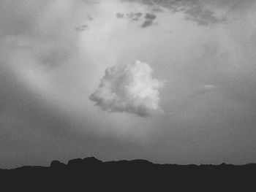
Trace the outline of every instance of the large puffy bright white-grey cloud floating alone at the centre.
<path fill-rule="evenodd" d="M 151 66 L 141 61 L 110 66 L 90 99 L 105 111 L 146 117 L 155 110 L 161 110 L 159 88 L 163 83 L 154 79 L 152 72 Z"/>

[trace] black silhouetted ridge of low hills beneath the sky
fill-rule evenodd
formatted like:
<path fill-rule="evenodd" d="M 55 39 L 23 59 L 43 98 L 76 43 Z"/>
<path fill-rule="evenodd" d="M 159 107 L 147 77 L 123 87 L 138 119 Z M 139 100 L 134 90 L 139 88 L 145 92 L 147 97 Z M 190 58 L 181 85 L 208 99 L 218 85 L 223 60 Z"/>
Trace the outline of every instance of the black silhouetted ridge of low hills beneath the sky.
<path fill-rule="evenodd" d="M 177 165 L 76 158 L 67 164 L 0 169 L 8 191 L 245 191 L 255 184 L 256 164 Z"/>

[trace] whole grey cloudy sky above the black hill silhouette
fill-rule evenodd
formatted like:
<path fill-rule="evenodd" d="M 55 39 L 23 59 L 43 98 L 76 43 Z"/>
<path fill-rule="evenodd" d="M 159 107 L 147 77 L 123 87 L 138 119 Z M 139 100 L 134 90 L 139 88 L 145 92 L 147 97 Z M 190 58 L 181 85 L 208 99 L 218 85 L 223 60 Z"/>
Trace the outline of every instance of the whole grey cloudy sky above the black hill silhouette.
<path fill-rule="evenodd" d="M 256 163 L 256 1 L 1 0 L 0 167 Z"/>

